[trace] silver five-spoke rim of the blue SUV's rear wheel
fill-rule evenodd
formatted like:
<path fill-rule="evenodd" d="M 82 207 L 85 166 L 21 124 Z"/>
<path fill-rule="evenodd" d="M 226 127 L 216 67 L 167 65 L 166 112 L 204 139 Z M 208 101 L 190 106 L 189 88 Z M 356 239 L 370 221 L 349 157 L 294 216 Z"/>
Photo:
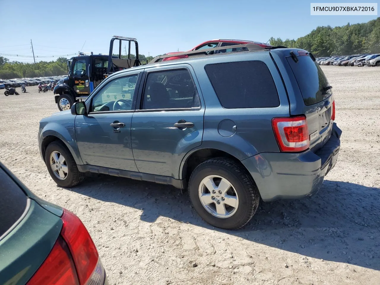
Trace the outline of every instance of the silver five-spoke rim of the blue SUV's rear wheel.
<path fill-rule="evenodd" d="M 198 193 L 203 207 L 218 218 L 231 217 L 239 206 L 235 188 L 222 176 L 205 177 L 199 184 Z"/>

